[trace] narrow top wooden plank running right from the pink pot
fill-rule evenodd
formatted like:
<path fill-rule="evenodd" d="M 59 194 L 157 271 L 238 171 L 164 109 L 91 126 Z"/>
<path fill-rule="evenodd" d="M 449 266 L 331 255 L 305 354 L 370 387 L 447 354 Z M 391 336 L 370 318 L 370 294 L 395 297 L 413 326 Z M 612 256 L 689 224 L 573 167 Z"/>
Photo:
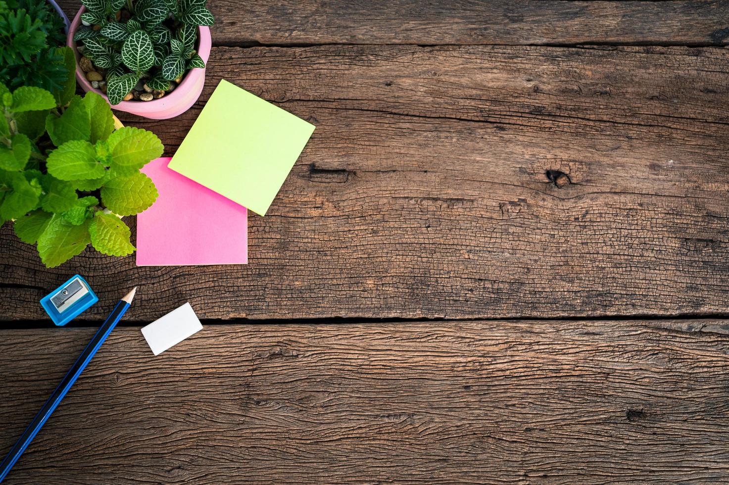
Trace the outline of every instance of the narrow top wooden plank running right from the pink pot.
<path fill-rule="evenodd" d="M 77 0 L 60 2 L 69 15 Z M 208 2 L 215 44 L 727 44 L 729 2 Z"/>

